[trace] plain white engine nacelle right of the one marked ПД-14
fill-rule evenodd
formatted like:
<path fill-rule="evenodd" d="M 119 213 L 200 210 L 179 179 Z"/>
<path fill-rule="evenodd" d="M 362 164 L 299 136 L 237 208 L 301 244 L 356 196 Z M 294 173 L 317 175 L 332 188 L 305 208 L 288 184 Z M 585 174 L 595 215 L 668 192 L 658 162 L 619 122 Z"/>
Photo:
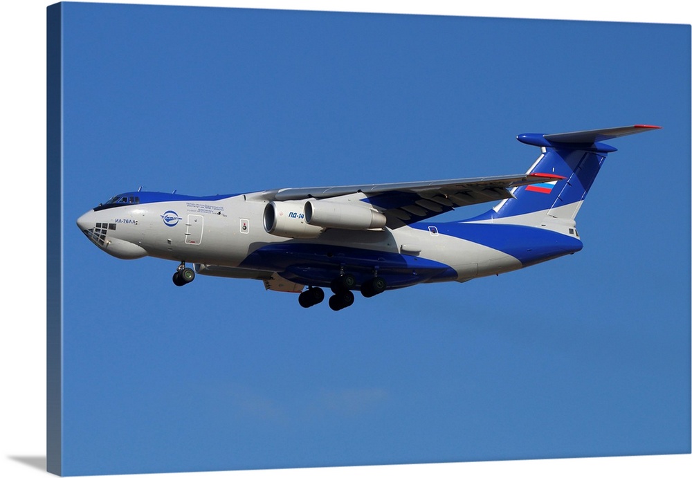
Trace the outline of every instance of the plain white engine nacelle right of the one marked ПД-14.
<path fill-rule="evenodd" d="M 365 205 L 349 205 L 334 201 L 310 199 L 305 203 L 305 221 L 310 226 L 337 229 L 383 228 L 387 217 Z"/>

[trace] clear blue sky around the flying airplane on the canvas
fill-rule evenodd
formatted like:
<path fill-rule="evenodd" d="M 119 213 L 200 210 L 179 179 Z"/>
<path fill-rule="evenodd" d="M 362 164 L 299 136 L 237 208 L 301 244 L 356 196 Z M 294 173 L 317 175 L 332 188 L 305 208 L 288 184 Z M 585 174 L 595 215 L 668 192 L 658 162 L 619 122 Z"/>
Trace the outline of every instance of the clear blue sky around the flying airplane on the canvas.
<path fill-rule="evenodd" d="M 689 26 L 65 3 L 63 28 L 66 473 L 690 452 Z M 664 129 L 612 141 L 579 254 L 338 313 L 176 288 L 74 224 L 140 185 L 521 173 L 517 134 L 635 123 Z"/>

